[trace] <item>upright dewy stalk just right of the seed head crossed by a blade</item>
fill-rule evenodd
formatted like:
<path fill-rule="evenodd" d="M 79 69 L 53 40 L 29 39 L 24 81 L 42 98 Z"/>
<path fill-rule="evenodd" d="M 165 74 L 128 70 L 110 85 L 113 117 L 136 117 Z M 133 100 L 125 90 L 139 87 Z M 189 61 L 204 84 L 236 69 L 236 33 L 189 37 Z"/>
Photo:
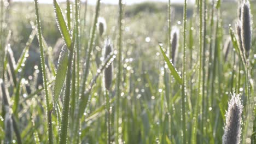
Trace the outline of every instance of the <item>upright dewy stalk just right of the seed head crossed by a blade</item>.
<path fill-rule="evenodd" d="M 123 32 L 123 1 L 119 0 L 119 16 L 118 16 L 118 77 L 117 77 L 117 116 L 116 116 L 116 137 L 115 137 L 115 143 L 118 143 L 119 140 L 119 125 L 121 123 L 119 123 L 119 111 L 120 110 L 120 97 L 121 97 L 121 91 L 122 91 L 122 87 L 121 87 L 121 82 L 122 82 L 122 51 L 123 51 L 123 47 L 122 47 L 122 32 Z"/>

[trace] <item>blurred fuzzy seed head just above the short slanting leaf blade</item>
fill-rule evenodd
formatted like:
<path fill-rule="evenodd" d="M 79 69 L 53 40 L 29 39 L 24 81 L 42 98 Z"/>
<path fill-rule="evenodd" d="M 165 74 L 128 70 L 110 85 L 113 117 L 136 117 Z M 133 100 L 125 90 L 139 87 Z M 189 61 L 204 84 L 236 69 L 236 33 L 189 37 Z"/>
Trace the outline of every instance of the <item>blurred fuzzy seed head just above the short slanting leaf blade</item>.
<path fill-rule="evenodd" d="M 174 64 L 176 59 L 177 47 L 179 44 L 179 29 L 177 27 L 172 28 L 171 42 L 172 42 L 172 63 Z"/>

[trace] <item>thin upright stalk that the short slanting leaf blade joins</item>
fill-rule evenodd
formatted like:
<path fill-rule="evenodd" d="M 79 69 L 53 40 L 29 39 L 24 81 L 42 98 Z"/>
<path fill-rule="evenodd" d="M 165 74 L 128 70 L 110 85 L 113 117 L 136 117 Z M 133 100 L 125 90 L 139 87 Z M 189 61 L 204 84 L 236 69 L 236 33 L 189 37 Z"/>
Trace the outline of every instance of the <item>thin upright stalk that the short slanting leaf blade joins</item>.
<path fill-rule="evenodd" d="M 186 56 L 186 33 L 187 33 L 187 0 L 184 0 L 183 10 L 183 65 L 182 65 L 182 137 L 183 143 L 187 143 L 187 126 L 185 111 L 185 56 Z"/>

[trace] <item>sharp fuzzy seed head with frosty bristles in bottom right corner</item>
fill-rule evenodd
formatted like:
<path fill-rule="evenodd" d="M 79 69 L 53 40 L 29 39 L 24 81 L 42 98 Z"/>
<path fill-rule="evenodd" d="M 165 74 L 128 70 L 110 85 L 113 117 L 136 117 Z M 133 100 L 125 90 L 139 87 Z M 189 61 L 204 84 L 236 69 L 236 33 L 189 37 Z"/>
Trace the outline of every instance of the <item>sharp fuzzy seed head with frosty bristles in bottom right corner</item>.
<path fill-rule="evenodd" d="M 226 112 L 226 124 L 224 135 L 222 137 L 223 144 L 238 144 L 241 139 L 241 123 L 243 106 L 239 94 L 231 95 L 228 111 Z"/>

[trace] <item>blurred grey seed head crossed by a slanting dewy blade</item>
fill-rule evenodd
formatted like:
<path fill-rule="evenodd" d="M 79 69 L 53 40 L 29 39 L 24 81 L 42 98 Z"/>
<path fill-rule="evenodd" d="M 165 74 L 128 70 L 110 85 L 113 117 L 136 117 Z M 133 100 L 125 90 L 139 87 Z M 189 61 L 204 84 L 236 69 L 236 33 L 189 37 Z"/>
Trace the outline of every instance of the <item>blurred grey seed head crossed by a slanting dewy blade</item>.
<path fill-rule="evenodd" d="M 105 41 L 105 47 L 104 47 L 104 59 L 106 60 L 109 54 L 112 52 L 113 46 L 110 40 Z M 104 84 L 105 88 L 110 91 L 110 87 L 112 84 L 112 71 L 113 71 L 113 64 L 109 63 L 104 70 Z"/>

